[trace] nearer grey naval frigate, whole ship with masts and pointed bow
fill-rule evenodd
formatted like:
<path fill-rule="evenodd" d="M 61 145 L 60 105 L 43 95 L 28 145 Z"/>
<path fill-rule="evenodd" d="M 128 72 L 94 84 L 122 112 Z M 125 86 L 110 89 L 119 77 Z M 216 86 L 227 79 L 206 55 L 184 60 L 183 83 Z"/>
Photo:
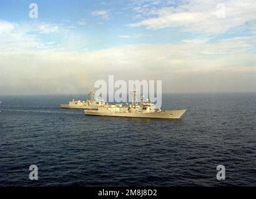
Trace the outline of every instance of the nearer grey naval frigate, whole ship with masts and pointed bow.
<path fill-rule="evenodd" d="M 185 111 L 187 111 L 186 109 L 170 111 L 162 111 L 161 109 L 156 109 L 154 104 L 151 103 L 149 99 L 144 102 L 143 96 L 140 96 L 140 104 L 138 104 L 136 101 L 135 88 L 132 93 L 132 104 L 126 103 L 125 106 L 122 104 L 104 104 L 103 106 L 98 106 L 96 109 L 85 109 L 84 113 L 86 115 L 94 116 L 180 119 Z"/>

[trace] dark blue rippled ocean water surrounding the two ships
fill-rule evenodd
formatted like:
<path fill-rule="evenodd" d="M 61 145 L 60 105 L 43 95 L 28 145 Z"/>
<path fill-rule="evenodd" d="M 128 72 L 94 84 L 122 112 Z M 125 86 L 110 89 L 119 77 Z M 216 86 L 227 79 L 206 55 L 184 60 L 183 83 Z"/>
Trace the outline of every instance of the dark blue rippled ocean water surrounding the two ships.
<path fill-rule="evenodd" d="M 255 94 L 164 95 L 181 120 L 59 108 L 73 98 L 0 96 L 1 186 L 256 185 Z"/>

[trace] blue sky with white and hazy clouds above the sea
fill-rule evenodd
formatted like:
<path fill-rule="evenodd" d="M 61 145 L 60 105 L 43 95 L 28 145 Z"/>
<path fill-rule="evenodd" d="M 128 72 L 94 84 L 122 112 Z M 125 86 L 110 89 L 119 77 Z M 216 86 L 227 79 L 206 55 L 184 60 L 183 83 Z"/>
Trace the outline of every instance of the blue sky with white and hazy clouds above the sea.
<path fill-rule="evenodd" d="M 1 0 L 0 95 L 85 93 L 109 75 L 256 92 L 255 12 L 256 0 Z"/>

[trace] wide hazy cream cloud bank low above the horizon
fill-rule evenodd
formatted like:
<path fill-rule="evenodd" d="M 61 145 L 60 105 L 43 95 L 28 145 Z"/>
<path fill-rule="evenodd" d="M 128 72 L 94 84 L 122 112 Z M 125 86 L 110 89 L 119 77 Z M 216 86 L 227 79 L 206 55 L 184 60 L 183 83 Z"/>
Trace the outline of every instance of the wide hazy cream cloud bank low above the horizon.
<path fill-rule="evenodd" d="M 108 75 L 162 80 L 165 92 L 256 91 L 255 44 L 255 37 L 237 37 L 91 52 L 5 52 L 0 53 L 0 93 L 83 93 Z"/>

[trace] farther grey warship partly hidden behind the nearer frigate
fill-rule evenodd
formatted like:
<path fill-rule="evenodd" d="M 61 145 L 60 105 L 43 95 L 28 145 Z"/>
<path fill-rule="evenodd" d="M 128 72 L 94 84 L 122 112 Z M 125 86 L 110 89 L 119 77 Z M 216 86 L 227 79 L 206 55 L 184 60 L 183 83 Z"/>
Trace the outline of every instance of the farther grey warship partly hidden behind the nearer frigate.
<path fill-rule="evenodd" d="M 72 101 L 69 101 L 69 104 L 61 104 L 61 108 L 77 108 L 77 109 L 97 109 L 99 106 L 104 106 L 107 104 L 103 99 L 95 100 L 94 95 L 95 91 L 91 90 L 90 93 L 90 99 L 86 101 L 77 100 L 74 99 Z"/>

